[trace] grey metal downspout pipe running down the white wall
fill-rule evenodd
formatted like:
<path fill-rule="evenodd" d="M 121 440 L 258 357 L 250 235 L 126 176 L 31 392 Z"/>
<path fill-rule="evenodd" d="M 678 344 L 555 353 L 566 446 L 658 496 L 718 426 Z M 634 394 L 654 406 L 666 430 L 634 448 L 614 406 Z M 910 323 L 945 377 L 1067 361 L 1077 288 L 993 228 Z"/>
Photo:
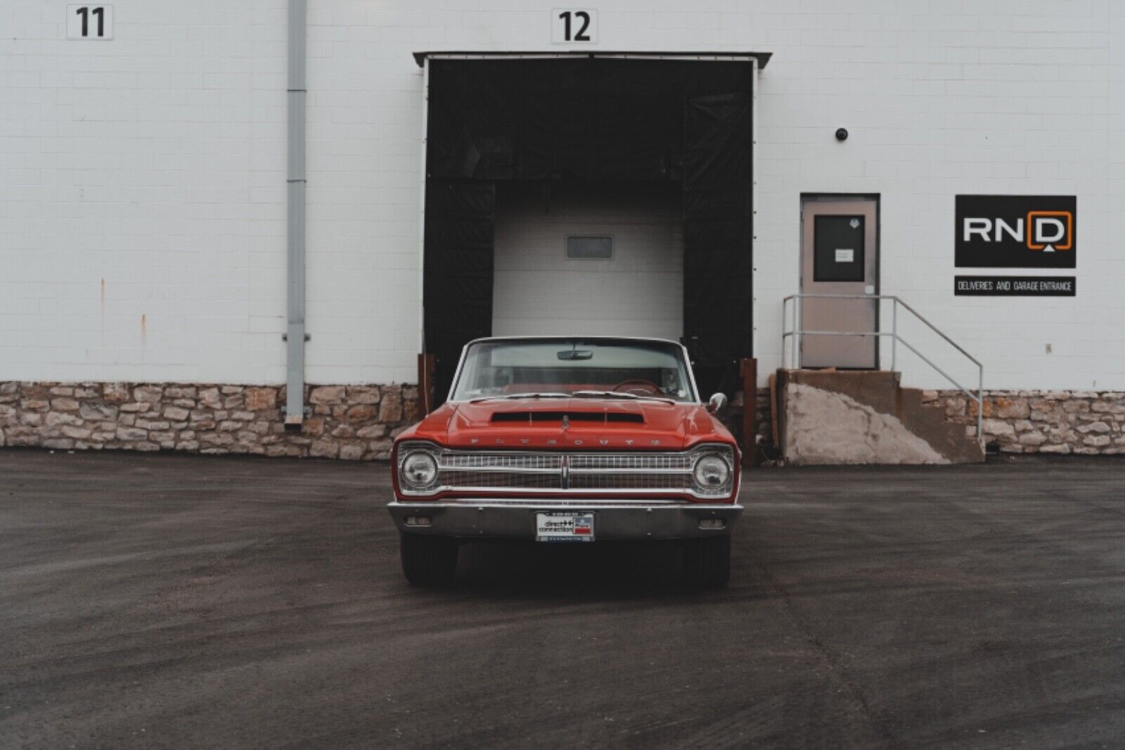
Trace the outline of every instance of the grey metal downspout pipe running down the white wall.
<path fill-rule="evenodd" d="M 289 0 L 285 423 L 305 419 L 305 21 L 306 0 Z"/>

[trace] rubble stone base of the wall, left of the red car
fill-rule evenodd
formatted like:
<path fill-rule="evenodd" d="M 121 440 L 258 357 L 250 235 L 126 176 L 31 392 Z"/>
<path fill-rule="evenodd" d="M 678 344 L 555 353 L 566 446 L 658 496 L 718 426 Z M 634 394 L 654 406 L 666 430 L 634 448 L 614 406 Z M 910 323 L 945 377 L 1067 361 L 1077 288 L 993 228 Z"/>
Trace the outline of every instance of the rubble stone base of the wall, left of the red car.
<path fill-rule="evenodd" d="M 413 385 L 313 385 L 312 414 L 285 428 L 285 387 L 0 383 L 0 446 L 184 450 L 372 459 L 417 421 Z"/>

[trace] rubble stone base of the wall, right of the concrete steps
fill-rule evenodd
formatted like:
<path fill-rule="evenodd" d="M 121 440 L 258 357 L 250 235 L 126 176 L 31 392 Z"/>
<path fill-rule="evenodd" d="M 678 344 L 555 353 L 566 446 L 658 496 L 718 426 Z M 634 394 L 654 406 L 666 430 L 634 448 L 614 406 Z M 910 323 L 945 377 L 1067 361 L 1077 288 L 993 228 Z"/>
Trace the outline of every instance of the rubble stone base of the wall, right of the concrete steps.
<path fill-rule="evenodd" d="M 926 391 L 945 418 L 975 435 L 976 402 Z M 996 391 L 984 394 L 984 440 L 1001 453 L 1125 454 L 1125 392 Z"/>

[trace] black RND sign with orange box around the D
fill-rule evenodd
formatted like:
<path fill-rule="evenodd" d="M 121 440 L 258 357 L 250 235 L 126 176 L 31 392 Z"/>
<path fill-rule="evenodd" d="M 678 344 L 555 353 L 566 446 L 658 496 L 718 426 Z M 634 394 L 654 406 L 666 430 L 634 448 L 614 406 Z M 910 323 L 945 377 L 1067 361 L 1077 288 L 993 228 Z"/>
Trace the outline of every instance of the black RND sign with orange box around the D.
<path fill-rule="evenodd" d="M 958 195 L 958 268 L 1074 268 L 1078 199 Z"/>

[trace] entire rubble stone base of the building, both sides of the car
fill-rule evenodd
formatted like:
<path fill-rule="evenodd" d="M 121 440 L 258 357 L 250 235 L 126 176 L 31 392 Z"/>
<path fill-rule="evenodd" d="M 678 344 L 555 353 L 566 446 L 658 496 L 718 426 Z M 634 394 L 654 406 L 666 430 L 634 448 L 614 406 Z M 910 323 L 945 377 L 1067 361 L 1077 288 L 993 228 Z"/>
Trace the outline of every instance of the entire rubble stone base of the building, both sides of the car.
<path fill-rule="evenodd" d="M 770 453 L 770 390 L 756 396 Z M 963 393 L 926 391 L 924 400 L 974 434 L 976 404 Z M 310 385 L 305 401 L 313 413 L 286 430 L 285 386 L 6 382 L 0 447 L 386 459 L 392 438 L 420 418 L 413 385 Z M 739 393 L 728 418 L 737 430 L 742 409 Z M 989 392 L 984 439 L 1002 453 L 1125 454 L 1125 392 Z"/>

